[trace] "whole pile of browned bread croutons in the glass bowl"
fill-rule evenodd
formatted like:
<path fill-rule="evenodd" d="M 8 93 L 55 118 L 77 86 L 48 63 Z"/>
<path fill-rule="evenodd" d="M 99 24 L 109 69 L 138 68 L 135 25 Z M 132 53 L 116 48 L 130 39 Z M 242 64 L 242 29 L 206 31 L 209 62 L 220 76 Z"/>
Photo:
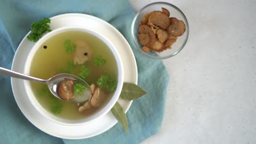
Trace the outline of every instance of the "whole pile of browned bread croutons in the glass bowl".
<path fill-rule="evenodd" d="M 146 13 L 140 22 L 139 43 L 144 52 L 161 52 L 170 49 L 177 38 L 184 34 L 186 25 L 174 17 L 169 18 L 170 12 L 166 8 L 162 11 Z"/>

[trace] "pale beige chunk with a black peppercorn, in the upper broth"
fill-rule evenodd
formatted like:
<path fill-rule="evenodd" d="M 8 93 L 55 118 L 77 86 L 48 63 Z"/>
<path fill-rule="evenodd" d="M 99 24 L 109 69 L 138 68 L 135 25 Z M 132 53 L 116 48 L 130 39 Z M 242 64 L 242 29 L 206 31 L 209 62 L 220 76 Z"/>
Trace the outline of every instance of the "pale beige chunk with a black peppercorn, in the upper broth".
<path fill-rule="evenodd" d="M 73 57 L 74 64 L 84 64 L 91 59 L 92 48 L 82 40 L 75 41 L 75 52 Z"/>

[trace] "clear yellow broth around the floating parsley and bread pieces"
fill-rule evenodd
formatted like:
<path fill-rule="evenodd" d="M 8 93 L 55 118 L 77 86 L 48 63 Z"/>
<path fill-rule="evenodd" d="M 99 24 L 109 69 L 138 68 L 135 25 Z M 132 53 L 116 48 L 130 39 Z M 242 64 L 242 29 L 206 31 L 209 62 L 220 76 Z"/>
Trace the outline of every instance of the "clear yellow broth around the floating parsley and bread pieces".
<path fill-rule="evenodd" d="M 91 57 L 91 60 L 86 61 L 85 63 L 86 67 L 91 68 L 91 74 L 88 75 L 88 78 L 85 80 L 88 82 L 88 84 L 96 84 L 96 81 L 100 75 L 103 74 L 112 74 L 116 77 L 117 80 L 117 63 L 113 53 L 110 51 L 108 46 L 98 37 L 78 31 L 60 33 L 49 38 L 42 45 L 40 45 L 40 48 L 36 51 L 35 56 L 32 58 L 29 75 L 41 79 L 48 79 L 53 75 L 61 73 L 61 68 L 67 69 L 67 61 L 73 59 L 74 53 L 66 53 L 64 47 L 65 40 L 71 40 L 71 42 L 74 42 L 75 40 L 83 40 L 87 42 L 88 45 L 92 48 L 93 56 Z M 47 48 L 44 48 L 45 46 Z M 97 55 L 100 55 L 102 58 L 106 59 L 107 63 L 100 67 L 95 66 L 94 59 Z M 74 71 L 74 75 L 78 75 L 81 66 L 82 65 L 80 64 L 77 65 Z M 45 88 L 45 84 L 30 82 L 30 85 L 37 101 L 41 104 L 41 106 L 48 112 L 51 112 L 58 117 L 77 120 L 87 117 L 104 107 L 102 106 L 99 108 L 91 108 L 85 110 L 84 112 L 79 112 L 77 103 L 62 101 L 60 99 L 55 99 L 51 96 L 45 96 L 45 94 L 42 94 L 43 89 Z M 109 101 L 112 95 L 113 93 L 109 93 L 105 103 Z M 53 112 L 55 103 L 56 107 L 59 105 L 62 106 L 61 112 Z"/>

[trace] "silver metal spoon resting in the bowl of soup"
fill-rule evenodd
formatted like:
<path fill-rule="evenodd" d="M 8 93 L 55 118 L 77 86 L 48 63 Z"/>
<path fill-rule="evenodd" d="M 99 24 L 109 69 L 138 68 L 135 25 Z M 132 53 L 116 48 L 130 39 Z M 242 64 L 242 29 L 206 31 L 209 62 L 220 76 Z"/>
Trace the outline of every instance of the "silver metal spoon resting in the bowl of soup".
<path fill-rule="evenodd" d="M 29 75 L 24 75 L 19 72 L 14 72 L 12 70 L 5 69 L 3 67 L 0 67 L 0 75 L 15 77 L 15 78 L 23 79 L 23 80 L 35 81 L 38 83 L 45 83 L 48 85 L 48 88 L 51 91 L 51 93 L 59 99 L 61 99 L 61 97 L 59 96 L 59 94 L 57 92 L 59 83 L 65 81 L 65 80 L 72 80 L 73 83 L 83 84 L 86 88 L 83 95 L 74 94 L 74 99 L 71 100 L 72 102 L 78 103 L 78 102 L 86 101 L 86 100 L 88 100 L 88 98 L 91 94 L 89 85 L 83 79 L 81 79 L 80 77 L 77 77 L 75 75 L 59 74 L 59 75 L 54 75 L 53 77 L 49 78 L 48 80 L 43 80 L 43 79 L 39 79 L 36 77 L 31 77 Z M 61 100 L 64 100 L 64 99 L 61 99 Z"/>

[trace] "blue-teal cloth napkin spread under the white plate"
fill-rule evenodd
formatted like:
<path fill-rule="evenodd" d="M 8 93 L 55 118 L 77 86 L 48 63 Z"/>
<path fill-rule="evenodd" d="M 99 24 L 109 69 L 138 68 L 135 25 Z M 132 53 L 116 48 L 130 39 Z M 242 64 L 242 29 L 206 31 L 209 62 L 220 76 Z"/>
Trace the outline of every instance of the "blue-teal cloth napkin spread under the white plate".
<path fill-rule="evenodd" d="M 14 100 L 10 78 L 0 76 L 0 143 L 138 144 L 156 134 L 163 120 L 169 76 L 162 61 L 144 56 L 133 44 L 130 29 L 135 13 L 128 0 L 1 0 L 0 67 L 11 69 L 14 53 L 33 21 L 62 13 L 87 13 L 117 28 L 133 49 L 138 85 L 148 94 L 133 101 L 127 112 L 128 134 L 116 124 L 89 139 L 67 140 L 50 136 L 29 123 Z"/>

